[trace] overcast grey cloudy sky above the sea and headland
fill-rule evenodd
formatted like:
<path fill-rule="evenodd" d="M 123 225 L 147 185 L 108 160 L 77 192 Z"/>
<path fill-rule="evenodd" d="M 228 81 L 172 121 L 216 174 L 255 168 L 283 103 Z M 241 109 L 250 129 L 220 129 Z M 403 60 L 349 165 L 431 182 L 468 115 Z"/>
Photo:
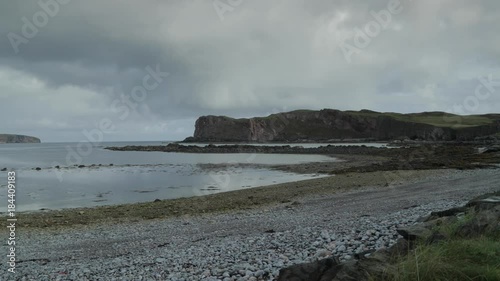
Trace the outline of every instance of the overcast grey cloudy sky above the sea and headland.
<path fill-rule="evenodd" d="M 201 115 L 500 112 L 500 2 L 0 4 L 0 133 L 181 140 Z"/>

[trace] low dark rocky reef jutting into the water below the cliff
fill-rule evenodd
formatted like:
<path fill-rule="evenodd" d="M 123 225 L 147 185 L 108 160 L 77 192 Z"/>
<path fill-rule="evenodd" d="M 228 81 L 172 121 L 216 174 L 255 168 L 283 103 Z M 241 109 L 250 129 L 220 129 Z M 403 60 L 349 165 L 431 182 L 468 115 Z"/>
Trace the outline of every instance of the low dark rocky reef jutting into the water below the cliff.
<path fill-rule="evenodd" d="M 484 144 L 478 143 L 430 143 L 412 144 L 400 148 L 368 147 L 364 145 L 325 145 L 320 147 L 302 147 L 291 145 L 212 145 L 197 146 L 170 143 L 156 146 L 106 147 L 115 151 L 161 151 L 176 153 L 271 153 L 271 154 L 316 154 L 349 158 L 352 155 L 378 157 L 377 161 L 358 162 L 354 166 L 336 165 L 325 168 L 316 167 L 318 173 L 349 173 L 394 170 L 424 169 L 476 169 L 498 167 L 500 152 L 480 153 Z M 481 148 L 481 149 L 480 149 Z M 365 157 L 366 158 L 366 157 Z M 384 160 L 385 159 L 385 160 Z M 338 162 L 337 162 L 338 163 Z M 310 165 L 310 164 L 304 164 Z M 324 165 L 323 165 L 324 166 Z M 283 167 L 286 168 L 286 167 Z M 308 172 L 310 172 L 309 170 Z"/>

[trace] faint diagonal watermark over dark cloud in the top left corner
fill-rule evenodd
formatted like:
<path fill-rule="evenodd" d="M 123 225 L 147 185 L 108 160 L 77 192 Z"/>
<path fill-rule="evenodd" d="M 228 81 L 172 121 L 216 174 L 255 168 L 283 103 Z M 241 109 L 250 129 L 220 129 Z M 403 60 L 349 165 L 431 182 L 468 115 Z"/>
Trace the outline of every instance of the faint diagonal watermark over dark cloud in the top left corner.
<path fill-rule="evenodd" d="M 40 10 L 36 11 L 33 16 L 31 16 L 31 19 L 27 17 L 21 18 L 23 22 L 21 32 L 19 34 L 15 32 L 9 32 L 7 34 L 7 38 L 14 52 L 18 54 L 21 44 L 28 44 L 30 39 L 35 38 L 40 32 L 40 29 L 49 24 L 50 18 L 57 16 L 61 10 L 61 6 L 67 5 L 71 1 L 72 0 L 39 0 L 38 6 Z"/>

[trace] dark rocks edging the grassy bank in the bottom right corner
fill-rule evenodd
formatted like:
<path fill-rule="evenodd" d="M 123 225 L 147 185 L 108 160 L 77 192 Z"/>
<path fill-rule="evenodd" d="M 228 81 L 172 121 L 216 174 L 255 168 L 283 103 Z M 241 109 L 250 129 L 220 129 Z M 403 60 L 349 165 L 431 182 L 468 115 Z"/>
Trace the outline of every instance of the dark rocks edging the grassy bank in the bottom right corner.
<path fill-rule="evenodd" d="M 372 254 L 356 255 L 355 259 L 341 262 L 332 256 L 316 262 L 292 265 L 279 272 L 278 281 L 368 281 L 384 280 L 394 267 L 397 257 L 407 255 L 416 241 L 433 244 L 447 239 L 437 226 L 450 225 L 467 212 L 474 212 L 471 220 L 458 227 L 458 237 L 478 237 L 484 233 L 500 233 L 500 191 L 475 198 L 461 208 L 433 212 L 420 223 L 398 229 L 403 236 L 387 249 Z"/>

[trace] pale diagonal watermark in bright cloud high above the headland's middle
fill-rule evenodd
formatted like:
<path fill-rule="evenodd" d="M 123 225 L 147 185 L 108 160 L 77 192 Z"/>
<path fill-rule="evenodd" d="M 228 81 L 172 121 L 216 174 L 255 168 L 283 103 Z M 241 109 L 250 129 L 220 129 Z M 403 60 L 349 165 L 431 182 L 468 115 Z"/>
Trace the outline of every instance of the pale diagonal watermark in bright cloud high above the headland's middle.
<path fill-rule="evenodd" d="M 368 47 L 375 37 L 389 27 L 393 15 L 400 14 L 402 11 L 403 5 L 400 0 L 390 0 L 385 9 L 378 12 L 370 11 L 373 20 L 366 23 L 362 28 L 354 28 L 352 38 L 337 38 L 346 61 L 351 63 L 351 57 L 354 54 L 359 54 L 362 49 Z M 347 40 L 352 43 L 348 43 Z"/>

